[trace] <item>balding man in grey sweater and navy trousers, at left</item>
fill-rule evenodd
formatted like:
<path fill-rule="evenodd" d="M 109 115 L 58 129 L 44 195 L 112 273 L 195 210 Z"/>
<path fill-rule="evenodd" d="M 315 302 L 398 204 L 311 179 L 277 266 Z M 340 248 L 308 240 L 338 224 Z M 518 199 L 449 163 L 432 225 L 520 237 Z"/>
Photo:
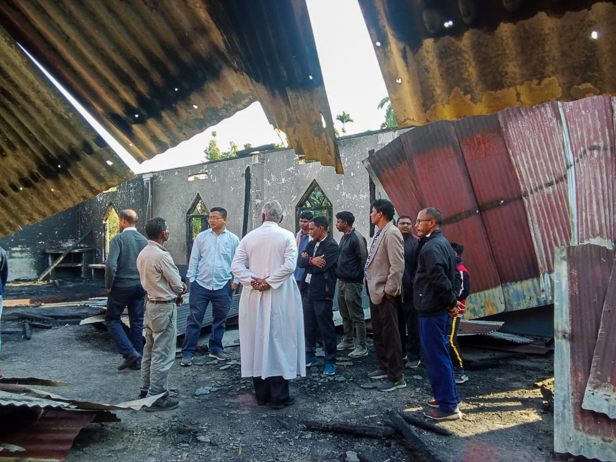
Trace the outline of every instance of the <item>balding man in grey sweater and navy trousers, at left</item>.
<path fill-rule="evenodd" d="M 137 256 L 148 240 L 137 231 L 137 218 L 134 210 L 120 212 L 120 234 L 111 239 L 105 262 L 105 286 L 109 293 L 105 325 L 124 357 L 118 370 L 128 367 L 139 369 L 142 353 L 145 291 L 139 281 Z M 120 320 L 124 308 L 128 309 L 131 323 L 129 336 Z"/>

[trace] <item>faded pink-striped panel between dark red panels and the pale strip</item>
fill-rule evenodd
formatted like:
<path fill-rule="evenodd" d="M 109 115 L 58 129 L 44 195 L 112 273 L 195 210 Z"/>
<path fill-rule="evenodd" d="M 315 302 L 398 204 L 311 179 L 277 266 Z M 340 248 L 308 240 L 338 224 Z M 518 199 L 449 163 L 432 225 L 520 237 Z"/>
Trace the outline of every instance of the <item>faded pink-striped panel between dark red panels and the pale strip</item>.
<path fill-rule="evenodd" d="M 510 108 L 498 118 L 524 197 L 539 270 L 551 274 L 554 248 L 571 241 L 567 156 L 558 104 Z"/>

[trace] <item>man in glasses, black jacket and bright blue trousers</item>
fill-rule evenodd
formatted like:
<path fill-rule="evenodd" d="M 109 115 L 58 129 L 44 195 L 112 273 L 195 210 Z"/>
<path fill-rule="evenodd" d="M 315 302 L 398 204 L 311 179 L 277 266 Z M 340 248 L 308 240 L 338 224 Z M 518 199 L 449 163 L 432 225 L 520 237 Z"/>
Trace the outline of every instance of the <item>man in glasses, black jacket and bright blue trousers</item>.
<path fill-rule="evenodd" d="M 434 399 L 428 402 L 432 409 L 424 416 L 432 420 L 454 420 L 462 414 L 447 335 L 452 330 L 452 316 L 459 310 L 460 276 L 452 247 L 440 231 L 442 222 L 442 214 L 431 207 L 417 216 L 415 231 L 420 249 L 413 299 L 419 316 L 421 351 L 434 394 Z"/>

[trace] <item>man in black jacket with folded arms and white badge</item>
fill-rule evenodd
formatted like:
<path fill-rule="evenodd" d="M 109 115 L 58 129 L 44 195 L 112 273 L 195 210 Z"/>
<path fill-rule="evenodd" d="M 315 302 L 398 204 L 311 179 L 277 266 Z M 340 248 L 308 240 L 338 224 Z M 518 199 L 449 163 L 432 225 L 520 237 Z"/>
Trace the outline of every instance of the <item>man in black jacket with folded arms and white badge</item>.
<path fill-rule="evenodd" d="M 316 216 L 310 220 L 309 232 L 312 241 L 306 251 L 298 256 L 298 266 L 306 268 L 301 290 L 304 294 L 304 331 L 306 338 L 306 367 L 318 364 L 317 338 L 323 339 L 325 370 L 323 374 L 336 373 L 336 329 L 332 310 L 336 290 L 336 266 L 338 244 L 328 234 L 326 217 Z"/>

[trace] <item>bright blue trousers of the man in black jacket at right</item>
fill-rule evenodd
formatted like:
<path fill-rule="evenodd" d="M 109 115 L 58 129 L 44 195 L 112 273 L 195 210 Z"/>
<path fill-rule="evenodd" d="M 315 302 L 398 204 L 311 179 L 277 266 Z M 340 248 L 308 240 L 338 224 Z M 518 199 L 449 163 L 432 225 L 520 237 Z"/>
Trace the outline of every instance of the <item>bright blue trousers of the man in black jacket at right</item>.
<path fill-rule="evenodd" d="M 460 402 L 460 394 L 453 381 L 452 360 L 449 356 L 449 338 L 452 331 L 452 317 L 419 316 L 419 341 L 421 353 L 426 362 L 428 378 L 434 399 L 440 410 L 450 413 Z"/>

